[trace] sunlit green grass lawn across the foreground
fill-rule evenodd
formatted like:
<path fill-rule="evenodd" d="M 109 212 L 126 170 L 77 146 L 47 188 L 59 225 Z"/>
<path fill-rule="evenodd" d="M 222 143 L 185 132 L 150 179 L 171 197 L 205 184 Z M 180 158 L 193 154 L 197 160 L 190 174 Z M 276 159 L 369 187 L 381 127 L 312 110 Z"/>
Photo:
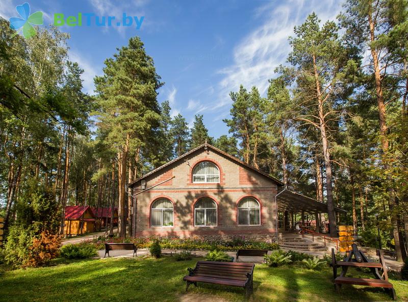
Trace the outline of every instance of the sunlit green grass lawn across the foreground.
<path fill-rule="evenodd" d="M 185 294 L 183 276 L 198 259 L 121 258 L 60 263 L 55 266 L 3 271 L 0 301 L 177 301 Z M 351 271 L 363 275 L 359 271 Z M 386 301 L 382 289 L 343 285 L 337 294 L 329 267 L 319 271 L 288 265 L 257 265 L 250 301 Z M 408 282 L 394 281 L 398 300 L 408 301 Z M 210 284 L 189 292 L 227 301 L 244 300 L 244 290 Z M 197 295 L 196 295 L 197 296 Z"/>

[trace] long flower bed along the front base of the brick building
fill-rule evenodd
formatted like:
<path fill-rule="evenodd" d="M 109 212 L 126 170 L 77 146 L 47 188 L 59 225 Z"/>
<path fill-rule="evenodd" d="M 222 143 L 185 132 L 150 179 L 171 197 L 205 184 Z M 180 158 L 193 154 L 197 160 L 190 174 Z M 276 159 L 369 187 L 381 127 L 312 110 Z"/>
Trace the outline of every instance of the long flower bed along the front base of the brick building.
<path fill-rule="evenodd" d="M 98 249 L 104 249 L 105 243 L 134 242 L 137 248 L 149 248 L 156 237 L 141 238 L 105 238 L 99 237 L 97 240 L 90 240 Z M 235 237 L 231 240 L 208 240 L 202 237 L 190 238 L 161 238 L 161 248 L 186 249 L 186 250 L 238 250 L 238 249 L 278 249 L 275 242 L 254 241 L 245 237 Z"/>

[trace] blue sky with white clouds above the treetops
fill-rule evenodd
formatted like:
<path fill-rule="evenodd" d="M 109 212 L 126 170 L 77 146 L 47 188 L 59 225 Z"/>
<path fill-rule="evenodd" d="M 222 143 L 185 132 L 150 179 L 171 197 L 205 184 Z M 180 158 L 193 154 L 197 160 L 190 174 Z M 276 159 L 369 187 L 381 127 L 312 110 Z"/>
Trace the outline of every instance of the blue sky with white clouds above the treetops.
<path fill-rule="evenodd" d="M 1 0 L 0 16 L 16 17 L 16 5 L 26 1 Z M 190 125 L 203 114 L 211 136 L 227 134 L 222 119 L 230 113 L 230 91 L 240 84 L 257 86 L 262 95 L 276 66 L 285 64 L 293 27 L 315 11 L 322 21 L 335 19 L 342 1 L 335 0 L 32 0 L 31 12 L 44 12 L 44 23 L 54 13 L 77 16 L 144 16 L 142 26 L 62 26 L 70 34 L 69 56 L 85 70 L 84 90 L 93 92 L 93 77 L 102 73 L 104 60 L 140 36 L 154 59 L 165 85 L 159 102 L 168 99 L 172 115 L 183 114 Z M 84 21 L 83 21 L 84 23 Z"/>

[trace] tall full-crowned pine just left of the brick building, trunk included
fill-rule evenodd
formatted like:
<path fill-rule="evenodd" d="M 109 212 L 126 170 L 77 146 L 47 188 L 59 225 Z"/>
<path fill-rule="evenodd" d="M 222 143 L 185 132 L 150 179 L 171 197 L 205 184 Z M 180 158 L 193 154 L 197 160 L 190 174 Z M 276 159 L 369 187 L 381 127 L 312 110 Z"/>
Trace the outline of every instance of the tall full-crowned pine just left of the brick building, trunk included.
<path fill-rule="evenodd" d="M 140 150 L 160 122 L 157 89 L 162 85 L 154 62 L 138 37 L 118 48 L 105 61 L 104 75 L 95 77 L 101 108 L 99 127 L 108 131 L 107 140 L 116 149 L 118 165 L 118 235 L 125 235 L 125 183 L 130 155 Z M 138 164 L 138 163 L 137 163 Z M 132 169 L 130 169 L 132 170 Z M 129 211 L 130 212 L 130 211 Z"/>

